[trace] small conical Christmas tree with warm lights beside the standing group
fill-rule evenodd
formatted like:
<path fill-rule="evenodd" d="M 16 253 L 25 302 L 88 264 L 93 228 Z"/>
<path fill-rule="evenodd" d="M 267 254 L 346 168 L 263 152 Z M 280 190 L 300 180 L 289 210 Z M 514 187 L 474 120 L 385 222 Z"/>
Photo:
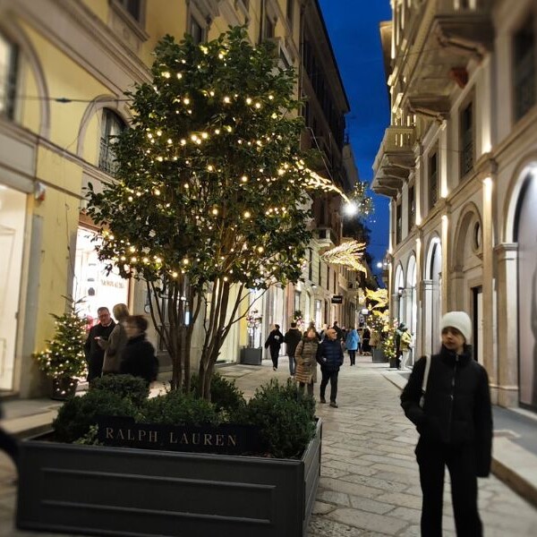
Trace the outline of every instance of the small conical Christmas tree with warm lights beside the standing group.
<path fill-rule="evenodd" d="M 54 315 L 55 337 L 47 339 L 47 349 L 34 354 L 38 368 L 51 379 L 72 379 L 86 374 L 86 320 L 74 307 L 64 315 Z"/>

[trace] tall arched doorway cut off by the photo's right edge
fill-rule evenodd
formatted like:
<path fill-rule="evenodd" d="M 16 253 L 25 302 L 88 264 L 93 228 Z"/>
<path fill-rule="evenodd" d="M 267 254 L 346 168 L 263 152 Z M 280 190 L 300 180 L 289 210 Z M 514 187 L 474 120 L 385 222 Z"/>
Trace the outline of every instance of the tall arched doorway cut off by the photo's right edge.
<path fill-rule="evenodd" d="M 516 206 L 520 404 L 537 409 L 537 173 L 524 179 Z"/>

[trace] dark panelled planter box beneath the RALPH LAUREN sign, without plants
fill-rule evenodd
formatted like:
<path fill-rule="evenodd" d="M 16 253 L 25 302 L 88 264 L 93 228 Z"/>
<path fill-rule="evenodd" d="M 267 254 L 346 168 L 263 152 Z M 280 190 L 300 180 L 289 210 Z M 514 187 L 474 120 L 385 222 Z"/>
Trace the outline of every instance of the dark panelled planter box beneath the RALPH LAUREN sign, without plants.
<path fill-rule="evenodd" d="M 321 422 L 299 460 L 21 442 L 17 527 L 164 537 L 305 537 Z"/>

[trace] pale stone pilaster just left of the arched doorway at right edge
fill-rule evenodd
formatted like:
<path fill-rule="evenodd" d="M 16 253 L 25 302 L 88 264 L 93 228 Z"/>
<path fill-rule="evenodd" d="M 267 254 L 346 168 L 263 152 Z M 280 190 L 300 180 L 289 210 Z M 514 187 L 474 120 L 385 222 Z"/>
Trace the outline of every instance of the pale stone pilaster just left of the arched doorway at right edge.
<path fill-rule="evenodd" d="M 498 405 L 518 406 L 518 245 L 499 243 L 498 260 Z"/>

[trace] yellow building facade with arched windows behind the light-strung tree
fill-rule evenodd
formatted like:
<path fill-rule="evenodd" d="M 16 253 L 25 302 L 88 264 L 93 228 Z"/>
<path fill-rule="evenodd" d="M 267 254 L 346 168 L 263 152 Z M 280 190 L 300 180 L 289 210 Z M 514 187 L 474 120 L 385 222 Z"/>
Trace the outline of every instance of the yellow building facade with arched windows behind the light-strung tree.
<path fill-rule="evenodd" d="M 90 322 L 101 305 L 148 311 L 145 288 L 107 276 L 98 261 L 84 188 L 113 178 L 109 136 L 127 127 L 124 90 L 149 80 L 158 39 L 180 40 L 186 32 L 201 42 L 229 25 L 246 25 L 252 43 L 274 40 L 278 61 L 297 68 L 297 92 L 310 97 L 315 118 L 304 143 L 320 144 L 329 159 L 323 169 L 341 176 L 345 91 L 339 77 L 307 75 L 312 64 L 304 60 L 309 43 L 308 61 L 320 58 L 326 72 L 337 71 L 317 1 L 0 0 L 0 394 L 45 390 L 31 355 L 52 337 L 50 314 L 64 312 L 65 296 L 85 299 L 81 314 Z M 329 297 L 342 292 L 346 277 L 319 259 L 320 248 L 340 240 L 337 221 L 328 221 L 339 200 L 312 203 L 312 226 L 322 232 L 311 243 L 304 282 L 261 299 L 261 339 L 272 322 L 286 328 L 294 310 L 318 325 L 343 315 L 337 308 L 346 306 L 335 309 Z M 246 342 L 242 323 L 228 337 L 223 360 L 238 360 Z M 165 353 L 161 360 L 166 367 Z"/>

